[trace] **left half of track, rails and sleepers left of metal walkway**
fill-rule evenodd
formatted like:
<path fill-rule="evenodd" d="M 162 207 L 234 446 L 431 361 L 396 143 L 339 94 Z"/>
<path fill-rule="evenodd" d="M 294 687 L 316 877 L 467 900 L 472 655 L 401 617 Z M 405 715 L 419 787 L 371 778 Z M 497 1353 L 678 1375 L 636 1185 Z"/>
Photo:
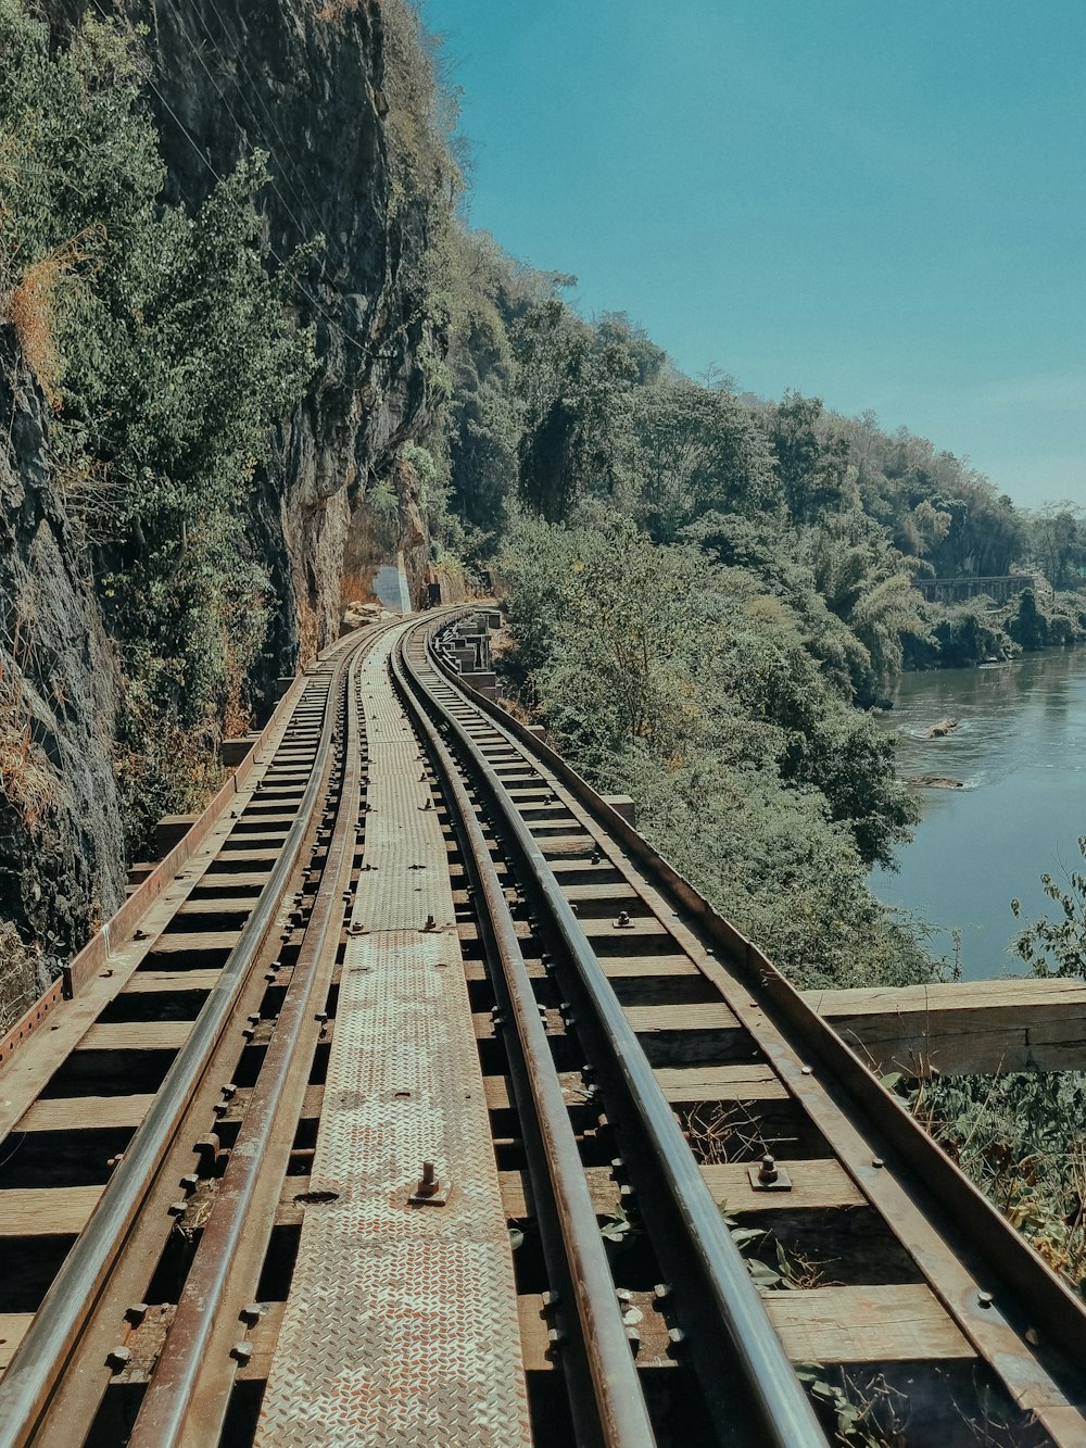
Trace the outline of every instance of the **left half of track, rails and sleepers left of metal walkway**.
<path fill-rule="evenodd" d="M 251 1221 L 255 1173 L 237 1183 L 239 1169 L 266 1167 L 282 1043 L 294 1064 L 320 983 L 310 941 L 327 922 L 314 902 L 326 873 L 342 873 L 358 817 L 358 769 L 345 779 L 343 743 L 368 643 L 332 650 L 295 688 L 219 838 L 103 963 L 101 979 L 119 989 L 100 1009 L 94 992 L 84 1011 L 74 1002 L 74 1050 L 49 1070 L 48 1054 L 30 1060 L 48 1045 L 39 1037 L 19 1058 L 30 1074 L 45 1064 L 45 1080 L 0 1167 L 4 1335 L 20 1338 L 0 1381 L 0 1444 L 78 1442 L 80 1423 L 127 1441 L 142 1394 L 123 1390 L 133 1357 L 125 1342 L 127 1329 L 151 1326 L 149 1303 L 156 1329 L 177 1323 L 171 1344 L 188 1335 L 195 1348 L 149 1405 L 143 1441 L 177 1441 L 220 1308 L 216 1279 Z M 169 1279 L 181 1276 L 190 1286 L 175 1296 Z"/>

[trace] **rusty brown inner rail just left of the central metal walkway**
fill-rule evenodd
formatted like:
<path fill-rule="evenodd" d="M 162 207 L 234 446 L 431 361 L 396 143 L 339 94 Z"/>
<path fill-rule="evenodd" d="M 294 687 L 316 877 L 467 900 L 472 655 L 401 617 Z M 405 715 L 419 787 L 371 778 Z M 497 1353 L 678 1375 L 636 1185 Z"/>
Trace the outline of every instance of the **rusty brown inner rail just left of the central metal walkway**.
<path fill-rule="evenodd" d="M 356 650 L 349 666 L 343 728 L 343 779 L 337 820 L 313 912 L 306 925 L 303 953 L 294 966 L 294 975 L 275 1022 L 268 1053 L 216 1193 L 211 1216 L 204 1226 L 200 1247 L 185 1277 L 177 1313 L 136 1415 L 129 1448 L 177 1448 L 177 1444 L 191 1429 L 190 1409 L 197 1378 L 216 1326 L 216 1315 L 226 1295 L 230 1267 L 249 1221 L 249 1211 L 256 1195 L 258 1177 L 264 1167 L 279 1103 L 295 1064 L 298 1040 L 310 1016 L 317 963 L 337 912 L 342 922 L 342 901 L 350 882 L 361 805 L 362 762 L 356 747 L 361 740 L 358 728 L 361 657 L 362 650 Z M 329 876 L 332 876 L 330 883 Z M 217 1442 L 224 1415 L 226 1402 L 222 1400 L 214 1405 L 213 1418 L 216 1420 L 207 1415 L 203 1416 L 198 1429 L 200 1442 Z M 191 1432 L 188 1432 L 188 1438 L 191 1441 Z"/>

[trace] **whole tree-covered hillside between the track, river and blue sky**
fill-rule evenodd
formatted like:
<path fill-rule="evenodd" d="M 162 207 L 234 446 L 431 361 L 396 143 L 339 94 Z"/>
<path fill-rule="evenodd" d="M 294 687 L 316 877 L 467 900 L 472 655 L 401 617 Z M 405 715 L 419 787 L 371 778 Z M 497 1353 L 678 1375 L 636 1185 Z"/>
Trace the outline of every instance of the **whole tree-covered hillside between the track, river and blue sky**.
<path fill-rule="evenodd" d="M 507 686 L 804 985 L 928 977 L 866 885 L 917 820 L 870 710 L 904 668 L 1086 637 L 1086 518 L 1037 515 L 950 452 L 683 376 L 572 278 L 462 230 L 439 543 L 508 589 Z M 925 578 L 1022 572 L 995 607 Z"/>

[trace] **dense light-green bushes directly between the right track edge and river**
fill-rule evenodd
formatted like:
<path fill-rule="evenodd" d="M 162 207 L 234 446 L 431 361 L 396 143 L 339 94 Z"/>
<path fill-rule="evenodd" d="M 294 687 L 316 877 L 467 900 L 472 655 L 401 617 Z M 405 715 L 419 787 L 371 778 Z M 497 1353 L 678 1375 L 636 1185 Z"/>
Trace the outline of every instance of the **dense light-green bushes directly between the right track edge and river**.
<path fill-rule="evenodd" d="M 630 518 L 526 520 L 502 559 L 513 682 L 599 788 L 804 985 L 930 973 L 866 888 L 911 817 L 892 744 L 847 710 L 791 610 Z"/>

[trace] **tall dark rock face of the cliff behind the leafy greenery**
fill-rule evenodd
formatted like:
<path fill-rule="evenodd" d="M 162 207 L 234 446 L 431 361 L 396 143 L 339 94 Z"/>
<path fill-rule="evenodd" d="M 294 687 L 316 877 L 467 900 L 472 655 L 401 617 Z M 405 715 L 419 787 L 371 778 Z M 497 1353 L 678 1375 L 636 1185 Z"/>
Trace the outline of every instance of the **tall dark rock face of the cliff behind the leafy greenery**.
<path fill-rule="evenodd" d="M 85 3 L 46 0 L 46 9 L 62 29 Z M 268 673 L 282 673 L 336 636 L 359 502 L 375 479 L 392 481 L 398 445 L 427 420 L 420 358 L 434 340 L 424 306 L 433 198 L 394 175 L 379 0 L 126 0 L 120 9 L 148 29 L 148 103 L 171 198 L 198 206 L 217 175 L 265 151 L 274 185 L 261 207 L 274 253 L 326 240 L 300 301 L 320 369 L 252 505 L 279 602 Z M 426 542 L 408 540 L 416 576 Z"/>

